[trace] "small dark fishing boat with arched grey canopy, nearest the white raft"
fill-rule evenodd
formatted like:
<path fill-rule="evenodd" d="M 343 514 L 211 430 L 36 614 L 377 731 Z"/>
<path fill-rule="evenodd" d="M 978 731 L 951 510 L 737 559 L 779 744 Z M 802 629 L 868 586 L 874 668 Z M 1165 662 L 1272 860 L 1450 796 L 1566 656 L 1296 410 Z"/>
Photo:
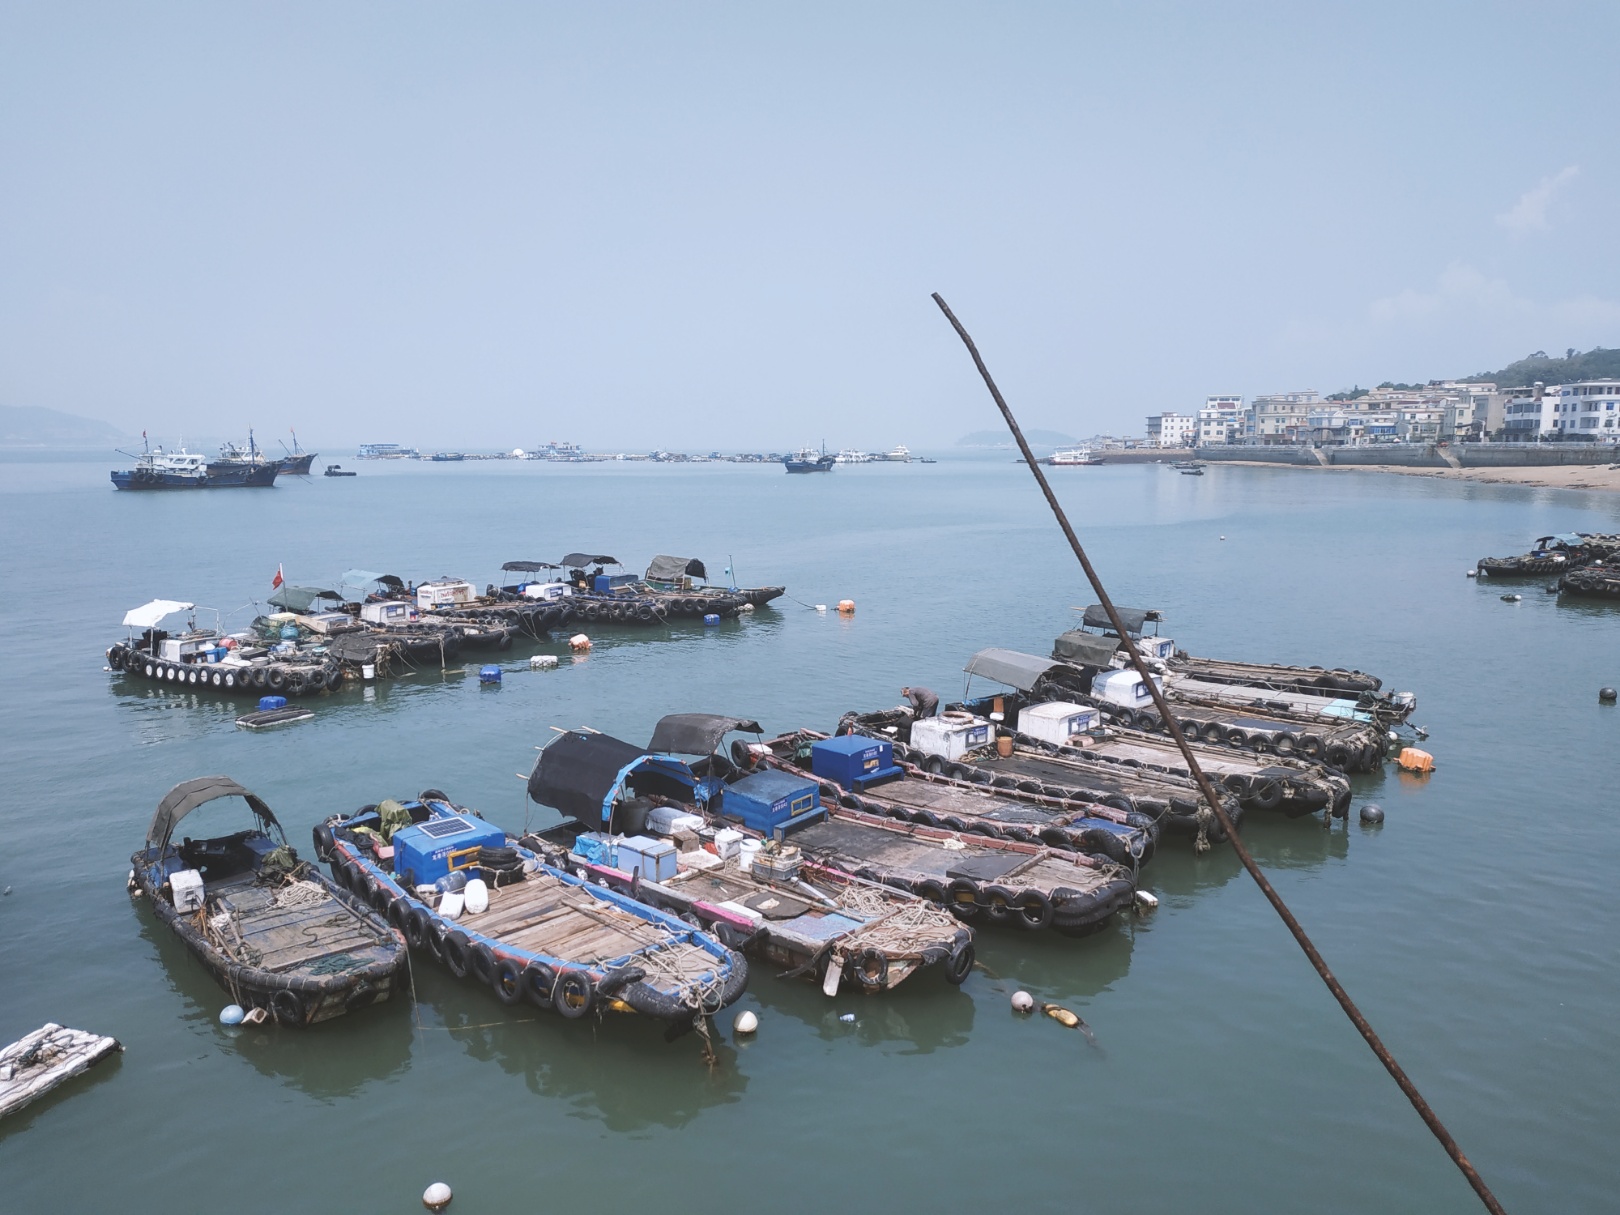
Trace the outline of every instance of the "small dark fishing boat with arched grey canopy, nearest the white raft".
<path fill-rule="evenodd" d="M 246 802 L 248 829 L 175 842 L 186 815 L 224 797 Z M 170 789 L 130 863 L 130 889 L 243 1009 L 313 1025 L 408 983 L 400 935 L 298 860 L 269 805 L 228 776 Z"/>

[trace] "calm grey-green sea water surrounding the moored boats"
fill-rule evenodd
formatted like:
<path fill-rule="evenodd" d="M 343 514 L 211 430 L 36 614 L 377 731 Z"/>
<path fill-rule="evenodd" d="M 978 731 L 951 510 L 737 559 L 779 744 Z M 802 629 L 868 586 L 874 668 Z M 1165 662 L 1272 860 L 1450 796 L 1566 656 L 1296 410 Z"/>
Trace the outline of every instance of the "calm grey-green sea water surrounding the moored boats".
<path fill-rule="evenodd" d="M 339 810 L 437 786 L 509 829 L 552 726 L 659 716 L 828 729 L 987 645 L 1045 653 L 1090 593 L 1009 458 L 786 476 L 748 465 L 366 463 L 274 491 L 117 494 L 105 460 L 0 460 L 0 1042 L 45 1021 L 122 1059 L 0 1124 L 6 1210 L 1468 1212 L 1476 1200 L 1230 850 L 1168 841 L 1162 904 L 1100 936 L 980 932 L 954 990 L 836 1000 L 753 970 L 719 1064 L 617 1017 L 502 1009 L 429 964 L 416 1006 L 222 1029 L 224 991 L 125 893 L 175 782 L 225 773 L 308 852 Z M 1427 781 L 1356 778 L 1382 828 L 1251 815 L 1330 966 L 1510 1210 L 1617 1205 L 1620 608 L 1463 573 L 1620 499 L 1375 473 L 1055 470 L 1113 596 L 1192 653 L 1358 666 L 1413 690 Z M 1221 539 L 1225 536 L 1225 539 Z M 102 671 L 164 596 L 245 625 L 277 564 L 494 580 L 502 561 L 692 554 L 794 599 L 719 629 L 603 629 L 481 688 L 476 661 L 318 701 L 280 732 Z M 977 687 L 977 684 L 975 684 Z M 215 807 L 219 810 L 219 807 Z M 206 810 L 202 813 L 207 813 Z M 1097 1045 L 1009 1013 L 1027 988 Z M 855 1022 L 839 1021 L 854 1013 Z"/>

